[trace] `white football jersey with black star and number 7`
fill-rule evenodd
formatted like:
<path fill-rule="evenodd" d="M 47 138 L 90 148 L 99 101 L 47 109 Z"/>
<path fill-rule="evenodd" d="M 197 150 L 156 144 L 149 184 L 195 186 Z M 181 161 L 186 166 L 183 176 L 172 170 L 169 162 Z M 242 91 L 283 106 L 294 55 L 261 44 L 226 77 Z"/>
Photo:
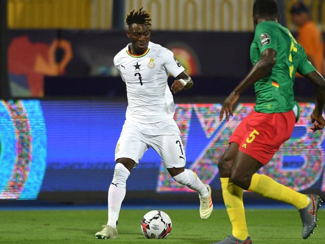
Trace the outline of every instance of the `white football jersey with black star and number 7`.
<path fill-rule="evenodd" d="M 168 72 L 176 77 L 184 68 L 161 45 L 150 41 L 141 55 L 130 53 L 129 45 L 114 57 L 114 66 L 126 84 L 126 119 L 155 123 L 172 118 L 175 106 L 167 84 Z"/>

